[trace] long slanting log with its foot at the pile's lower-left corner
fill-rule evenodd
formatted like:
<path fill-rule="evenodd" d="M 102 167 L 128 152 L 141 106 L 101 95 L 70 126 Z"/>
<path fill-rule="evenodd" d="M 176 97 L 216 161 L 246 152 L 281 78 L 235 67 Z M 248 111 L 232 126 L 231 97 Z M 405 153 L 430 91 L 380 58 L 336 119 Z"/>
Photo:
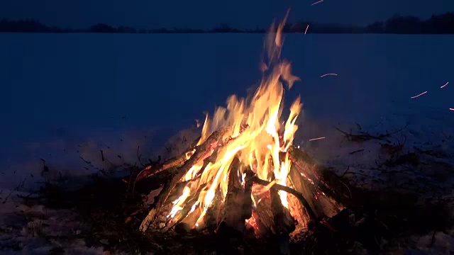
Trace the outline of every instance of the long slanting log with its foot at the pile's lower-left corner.
<path fill-rule="evenodd" d="M 157 212 L 160 210 L 162 205 L 167 202 L 167 198 L 169 198 L 170 193 L 172 193 L 175 186 L 177 186 L 177 183 L 183 178 L 183 176 L 189 171 L 189 169 L 191 169 L 192 166 L 194 166 L 201 160 L 209 157 L 214 152 L 216 147 L 222 146 L 224 142 L 228 142 L 225 141 L 225 137 L 229 132 L 231 132 L 231 128 L 229 127 L 222 128 L 221 130 L 213 132 L 202 145 L 199 145 L 195 148 L 196 152 L 194 152 L 192 157 L 184 162 L 183 166 L 179 167 L 175 170 L 175 172 L 172 173 L 170 181 L 167 181 L 167 183 L 165 183 L 160 196 L 157 198 L 155 208 L 153 208 L 153 210 L 148 213 L 147 217 L 145 217 L 145 220 L 143 220 L 142 224 L 140 225 L 139 229 L 141 231 L 145 232 L 148 229 L 150 222 L 153 222 Z"/>

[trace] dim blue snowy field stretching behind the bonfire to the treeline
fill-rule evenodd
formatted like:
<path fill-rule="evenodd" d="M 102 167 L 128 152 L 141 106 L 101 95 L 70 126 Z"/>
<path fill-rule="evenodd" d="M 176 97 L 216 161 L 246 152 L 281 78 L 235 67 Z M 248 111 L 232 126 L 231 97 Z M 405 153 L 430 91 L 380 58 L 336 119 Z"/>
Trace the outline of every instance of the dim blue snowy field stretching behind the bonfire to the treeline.
<path fill-rule="evenodd" d="M 140 147 L 142 157 L 155 159 L 168 137 L 258 83 L 263 38 L 0 34 L 0 198 L 24 180 L 32 188 L 58 171 L 97 171 L 81 157 L 109 169 L 135 164 Z M 452 35 L 286 35 L 283 57 L 301 81 L 285 96 L 288 103 L 301 94 L 304 103 L 295 144 L 367 188 L 424 179 L 406 188 L 452 197 L 452 168 L 424 168 L 454 163 L 452 45 Z M 392 135 L 349 142 L 336 128 Z M 317 137 L 325 138 L 311 140 Z M 384 143 L 403 142 L 402 153 L 415 152 L 423 162 L 417 171 L 373 171 Z M 43 172 L 41 159 L 50 171 Z M 440 239 L 443 251 L 454 249 L 452 237 Z"/>

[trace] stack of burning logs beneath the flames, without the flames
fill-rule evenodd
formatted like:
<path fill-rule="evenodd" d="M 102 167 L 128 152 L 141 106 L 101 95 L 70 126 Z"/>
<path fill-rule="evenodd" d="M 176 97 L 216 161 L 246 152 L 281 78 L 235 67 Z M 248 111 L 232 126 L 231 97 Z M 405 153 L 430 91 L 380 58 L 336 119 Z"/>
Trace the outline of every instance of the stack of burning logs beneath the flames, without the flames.
<path fill-rule="evenodd" d="M 256 237 L 297 234 L 307 229 L 311 222 L 333 217 L 343 208 L 343 205 L 337 202 L 338 194 L 328 185 L 328 180 L 324 179 L 324 174 L 319 172 L 313 159 L 306 152 L 292 146 L 288 149 L 291 167 L 287 186 L 273 180 L 260 179 L 252 169 L 243 170 L 240 159 L 235 157 L 226 171 L 225 198 L 222 199 L 221 191 L 216 191 L 213 202 L 204 212 L 203 208 L 196 208 L 196 205 L 200 193 L 206 191 L 207 186 L 199 185 L 194 191 L 195 195 L 187 198 L 179 205 L 179 210 L 172 213 L 172 208 L 181 201 L 179 198 L 184 195 L 185 187 L 201 179 L 203 172 L 187 181 L 184 176 L 193 166 L 201 164 L 200 162 L 203 162 L 201 169 L 213 164 L 218 149 L 234 139 L 226 135 L 229 130 L 223 128 L 213 132 L 201 145 L 191 147 L 187 152 L 161 164 L 147 166 L 138 174 L 137 181 L 163 171 L 167 171 L 168 176 L 155 200 L 154 208 L 143 220 L 140 230 L 167 232 L 175 227 L 189 230 L 202 228 L 202 225 L 216 229 L 221 222 L 225 222 L 228 227 L 238 232 L 253 229 Z M 189 154 L 192 156 L 189 157 Z M 285 155 L 281 153 L 279 157 Z M 272 176 L 271 179 L 273 178 Z M 289 194 L 287 207 L 282 205 L 279 192 Z M 202 213 L 205 216 L 204 221 L 197 221 Z"/>

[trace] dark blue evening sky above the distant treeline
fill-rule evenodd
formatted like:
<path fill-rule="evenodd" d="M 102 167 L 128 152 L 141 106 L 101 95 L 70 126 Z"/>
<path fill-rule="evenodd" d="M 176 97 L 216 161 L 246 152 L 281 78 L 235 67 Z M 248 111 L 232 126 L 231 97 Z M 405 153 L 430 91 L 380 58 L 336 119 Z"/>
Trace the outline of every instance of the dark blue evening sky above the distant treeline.
<path fill-rule="evenodd" d="M 316 0 L 314 0 L 316 1 Z M 290 21 L 365 24 L 394 13 L 426 18 L 454 11 L 454 0 L 0 0 L 2 18 L 37 18 L 65 28 L 93 23 L 136 28 L 267 27 L 292 7 Z"/>

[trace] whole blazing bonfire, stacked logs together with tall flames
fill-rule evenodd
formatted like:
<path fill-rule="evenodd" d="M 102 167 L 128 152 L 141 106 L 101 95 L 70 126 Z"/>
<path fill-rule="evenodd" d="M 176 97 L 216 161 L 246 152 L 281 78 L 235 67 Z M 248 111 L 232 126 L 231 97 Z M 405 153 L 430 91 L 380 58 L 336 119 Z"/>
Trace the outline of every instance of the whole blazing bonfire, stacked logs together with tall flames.
<path fill-rule="evenodd" d="M 299 97 L 282 116 L 284 90 L 299 81 L 280 58 L 284 23 L 273 24 L 267 35 L 264 75 L 255 93 L 230 96 L 225 108 L 206 115 L 201 136 L 187 152 L 140 171 L 136 181 L 168 174 L 140 230 L 216 231 L 223 222 L 255 237 L 292 237 L 343 208 L 314 161 L 293 145 Z"/>

